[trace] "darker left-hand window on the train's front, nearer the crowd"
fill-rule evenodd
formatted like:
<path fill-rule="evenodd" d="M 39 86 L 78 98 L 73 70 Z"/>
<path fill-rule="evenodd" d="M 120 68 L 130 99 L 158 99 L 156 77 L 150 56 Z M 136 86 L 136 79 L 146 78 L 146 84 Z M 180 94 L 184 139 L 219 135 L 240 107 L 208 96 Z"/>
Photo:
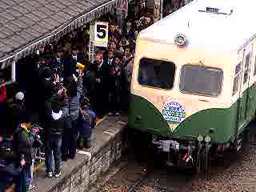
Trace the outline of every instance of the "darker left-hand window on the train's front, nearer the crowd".
<path fill-rule="evenodd" d="M 174 86 L 175 65 L 151 58 L 142 58 L 139 63 L 138 83 L 142 86 L 170 90 Z"/>

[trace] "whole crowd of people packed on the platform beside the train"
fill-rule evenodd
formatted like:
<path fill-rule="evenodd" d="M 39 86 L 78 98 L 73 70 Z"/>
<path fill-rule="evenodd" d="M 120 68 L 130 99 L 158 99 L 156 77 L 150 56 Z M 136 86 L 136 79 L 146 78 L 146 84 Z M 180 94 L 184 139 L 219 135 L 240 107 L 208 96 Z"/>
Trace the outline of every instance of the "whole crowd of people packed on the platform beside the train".
<path fill-rule="evenodd" d="M 128 109 L 134 25 L 127 20 L 120 30 L 110 22 L 108 47 L 96 50 L 94 62 L 85 45 L 46 46 L 22 61 L 29 70 L 18 67 L 22 78 L 13 98 L 0 86 L 0 116 L 7 122 L 0 131 L 1 192 L 12 182 L 18 192 L 34 188 L 38 150 L 45 153 L 46 178 L 60 177 L 61 162 L 74 159 L 77 148 L 90 148 L 97 118 Z"/>

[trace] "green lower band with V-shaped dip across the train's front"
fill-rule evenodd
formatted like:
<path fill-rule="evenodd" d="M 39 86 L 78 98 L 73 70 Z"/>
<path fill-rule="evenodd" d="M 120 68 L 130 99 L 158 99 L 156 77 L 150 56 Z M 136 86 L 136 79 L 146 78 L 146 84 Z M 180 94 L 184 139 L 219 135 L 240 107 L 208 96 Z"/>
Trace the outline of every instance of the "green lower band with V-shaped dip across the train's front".
<path fill-rule="evenodd" d="M 214 142 L 228 142 L 236 135 L 238 124 L 238 102 L 228 109 L 209 109 L 186 118 L 172 132 L 159 110 L 146 99 L 131 95 L 129 127 L 152 131 L 154 134 L 186 139 L 198 134 L 210 135 Z M 210 130 L 213 130 L 211 133 Z"/>

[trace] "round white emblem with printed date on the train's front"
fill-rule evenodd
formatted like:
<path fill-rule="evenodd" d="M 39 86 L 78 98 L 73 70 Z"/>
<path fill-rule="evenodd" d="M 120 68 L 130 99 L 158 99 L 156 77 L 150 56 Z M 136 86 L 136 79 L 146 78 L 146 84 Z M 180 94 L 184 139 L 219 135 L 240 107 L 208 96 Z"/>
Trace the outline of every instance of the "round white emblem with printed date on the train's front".
<path fill-rule="evenodd" d="M 170 100 L 162 107 L 162 115 L 167 122 L 180 123 L 185 119 L 185 107 L 181 102 Z"/>

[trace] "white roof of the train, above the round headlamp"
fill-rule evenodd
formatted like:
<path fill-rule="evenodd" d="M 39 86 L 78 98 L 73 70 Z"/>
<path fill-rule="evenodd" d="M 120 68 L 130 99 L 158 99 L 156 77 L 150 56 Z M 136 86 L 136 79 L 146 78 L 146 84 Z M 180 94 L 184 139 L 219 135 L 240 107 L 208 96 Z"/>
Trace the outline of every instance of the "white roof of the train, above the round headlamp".
<path fill-rule="evenodd" d="M 142 30 L 138 39 L 174 44 L 184 34 L 192 49 L 238 51 L 256 34 L 255 7 L 254 0 L 194 0 Z"/>

